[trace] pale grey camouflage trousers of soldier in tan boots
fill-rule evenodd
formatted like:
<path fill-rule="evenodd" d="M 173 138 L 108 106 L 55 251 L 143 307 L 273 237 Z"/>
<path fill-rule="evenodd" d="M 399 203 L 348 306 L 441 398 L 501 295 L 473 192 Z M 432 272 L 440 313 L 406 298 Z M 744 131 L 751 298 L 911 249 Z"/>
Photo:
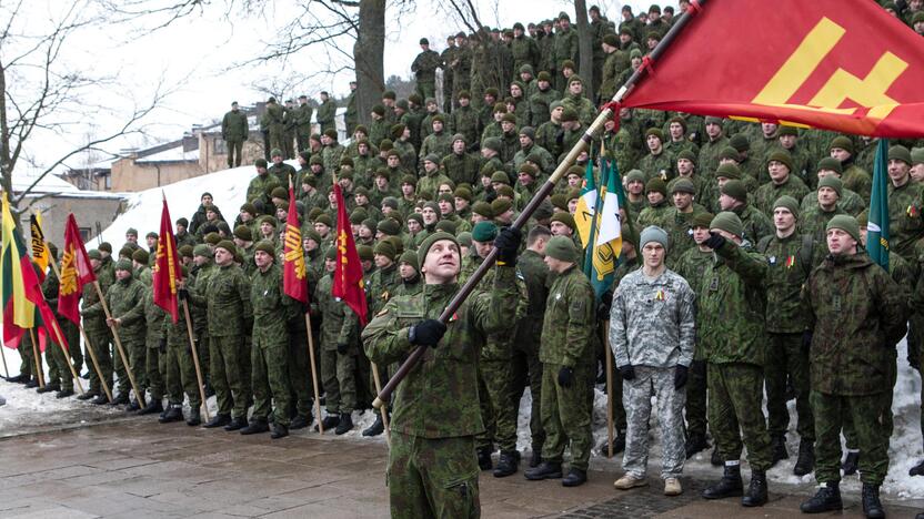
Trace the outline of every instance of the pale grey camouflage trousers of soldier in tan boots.
<path fill-rule="evenodd" d="M 623 406 L 629 429 L 622 466 L 634 478 L 645 477 L 649 465 L 649 421 L 651 397 L 657 398 L 657 423 L 661 430 L 661 478 L 676 478 L 683 472 L 686 448 L 683 437 L 685 391 L 674 389 L 674 367 L 636 366 L 635 378 L 623 380 Z"/>

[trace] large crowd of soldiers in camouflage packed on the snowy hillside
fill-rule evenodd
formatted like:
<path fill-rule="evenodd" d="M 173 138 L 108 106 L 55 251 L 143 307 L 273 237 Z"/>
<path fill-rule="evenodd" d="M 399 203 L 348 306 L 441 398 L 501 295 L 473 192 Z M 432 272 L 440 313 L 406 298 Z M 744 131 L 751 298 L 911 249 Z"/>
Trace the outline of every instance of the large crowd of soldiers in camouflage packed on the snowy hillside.
<path fill-rule="evenodd" d="M 689 8 L 685 1 L 680 4 Z M 891 2 L 884 7 L 922 32 L 922 4 L 911 0 L 901 12 Z M 673 11 L 652 6 L 636 17 L 624 7 L 622 16 L 616 28 L 597 8 L 590 9 L 593 77 L 599 81 L 593 90 L 600 99 L 609 99 L 642 65 L 643 53 L 670 28 Z M 681 492 L 676 478 L 684 459 L 707 449 L 712 439 L 712 462 L 724 474 L 703 496 L 743 496 L 743 505 L 761 506 L 766 470 L 790 457 L 786 435 L 794 432 L 794 474 L 814 470 L 821 485 L 803 511 L 838 509 L 842 472 L 858 470 L 864 511 L 883 517 L 878 489 L 888 468 L 896 344 L 907 332 L 908 362 L 918 370 L 924 345 L 918 311 L 924 294 L 924 147 L 918 146 L 924 141 L 893 143 L 888 150 L 887 273 L 865 252 L 875 139 L 651 110 L 622 109 L 619 124 L 606 123 L 591 152 L 581 154 L 566 181 L 539 204 L 518 248 L 505 230 L 597 112 L 575 73 L 575 30 L 561 13 L 525 28 L 516 23 L 510 31 L 460 32 L 446 42 L 438 54 L 421 40 L 423 51 L 412 65 L 418 90 L 408 99 L 384 92 L 368 125 L 358 124 L 355 111 L 348 110 L 346 145 L 332 125 L 335 106 L 324 109 L 323 119 L 319 111 L 321 132 L 312 134 L 305 99 L 291 111 L 270 100 L 265 126 L 268 129 L 269 159 L 255 161 L 247 202 L 225 216 L 204 193 L 192 217 L 175 222 L 185 278 L 179 297 L 192 313 L 207 388 L 218 397 L 218 414 L 204 426 L 242 434 L 271 430 L 280 438 L 317 419 L 325 429 L 345 434 L 354 428 L 353 411 L 369 408 L 375 396 L 374 366 L 388 379 L 408 353 L 398 346 L 435 347 L 448 333 L 453 338 L 444 342 L 452 346 L 433 358 L 452 366 L 471 363 L 476 369 L 464 372 L 461 386 L 446 383 L 445 373 L 440 378 L 433 366 L 432 378 L 405 383 L 413 389 L 403 389 L 403 397 L 400 389 L 388 406 L 394 414 L 392 431 L 429 439 L 471 437 L 464 445 L 474 450 L 481 470 L 493 470 L 494 477 L 519 470 L 518 413 L 529 387 L 528 479 L 562 478 L 566 487 L 579 486 L 586 480 L 591 451 L 613 448 L 625 450 L 626 475 L 615 487 L 644 485 L 644 438 L 654 391 L 662 425 L 673 424 L 662 427 L 665 493 Z M 438 102 L 440 68 L 444 98 Z M 327 98 L 322 94 L 325 103 Z M 285 125 L 290 113 L 302 121 L 293 133 Z M 240 119 L 237 108 L 225 116 L 229 152 L 235 140 L 245 139 Z M 583 274 L 584 247 L 574 218 L 589 165 L 599 182 L 601 150 L 623 174 L 626 202 L 620 263 L 613 287 L 602 297 Z M 297 157 L 298 169 L 284 162 L 289 156 Z M 298 193 L 311 289 L 305 305 L 281 288 L 290 182 Z M 344 194 L 364 272 L 371 319 L 365 328 L 345 302 L 331 295 L 338 250 L 334 182 Z M 90 369 L 90 391 L 80 398 L 108 403 L 101 381 L 111 385 L 114 370 L 113 404 L 160 413 L 160 421 L 185 419 L 198 426 L 201 398 L 185 322 L 164 318 L 152 302 L 150 266 L 158 240 L 148 233 L 145 246 L 139 245 L 138 233 L 130 230 L 114 257 L 106 243 L 90 251 L 112 317 L 88 288 L 84 346 L 94 348 L 104 380 Z M 424 261 L 444 242 L 455 244 L 461 255 L 459 283 L 492 247 L 503 248 L 501 265 L 476 288 L 482 298 L 473 296 L 458 316 L 469 326 L 464 334 L 433 324 L 452 293 L 434 288 L 422 275 Z M 655 263 L 663 254 L 670 275 L 659 263 L 651 272 L 664 277 L 640 277 L 640 268 L 649 268 L 649 254 Z M 509 266 L 515 266 L 515 276 L 504 268 Z M 631 283 L 623 286 L 623 279 Z M 57 297 L 56 284 L 49 274 L 43 288 L 50 299 Z M 504 294 L 504 302 L 495 302 L 496 294 Z M 663 349 L 666 343 L 660 337 L 674 328 L 645 327 L 639 320 L 645 315 L 666 318 L 664 308 L 675 308 L 673 298 L 681 294 L 695 308 L 687 317 L 695 318 L 672 325 L 675 349 L 657 350 L 651 345 Z M 661 304 L 665 301 L 671 305 Z M 511 307 L 501 308 L 504 304 Z M 499 324 L 496 316 L 483 314 L 489 308 L 509 318 Z M 79 344 L 76 328 L 62 324 L 70 344 Z M 139 389 L 148 395 L 144 406 L 129 399 L 127 367 L 110 350 L 113 327 L 130 353 L 129 369 Z M 309 334 L 320 359 L 323 417 L 312 413 Z M 593 388 L 605 378 L 604 359 L 611 353 L 616 435 L 612 445 L 593 446 Z M 34 385 L 28 342 L 21 354 L 19 380 Z M 72 348 L 72 355 L 80 369 L 80 348 Z M 43 390 L 71 396 L 66 360 L 53 348 L 47 356 Z M 420 393 L 409 396 L 412 390 Z M 420 401 L 428 391 L 432 401 Z M 676 398 L 667 398 L 670 391 Z M 184 397 L 190 407 L 185 417 Z M 797 410 L 794 427 L 786 406 L 791 399 Z M 424 419 L 430 416 L 442 419 Z M 383 429 L 379 415 L 362 434 Z M 841 434 L 846 438 L 843 460 Z M 402 449 L 415 448 L 399 445 L 394 456 L 411 456 Z M 745 446 L 752 471 L 746 489 L 739 461 Z M 433 469 L 434 480 L 459 470 L 443 469 L 449 472 Z M 400 470 L 392 467 L 392 481 L 399 481 Z M 911 474 L 924 475 L 924 461 Z M 463 476 L 455 484 L 472 506 L 478 475 Z M 409 500 L 424 499 L 420 489 L 394 487 L 404 492 L 401 502 L 408 509 L 413 509 Z M 392 490 L 392 510 L 401 515 Z M 433 501 L 458 497 L 438 492 L 429 506 L 468 510 Z"/>

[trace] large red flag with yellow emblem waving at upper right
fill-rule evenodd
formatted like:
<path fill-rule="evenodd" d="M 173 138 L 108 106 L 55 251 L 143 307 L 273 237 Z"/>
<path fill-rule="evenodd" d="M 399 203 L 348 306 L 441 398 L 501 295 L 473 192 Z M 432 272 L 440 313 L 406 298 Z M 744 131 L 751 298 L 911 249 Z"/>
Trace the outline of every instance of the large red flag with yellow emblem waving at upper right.
<path fill-rule="evenodd" d="M 924 135 L 921 37 L 876 2 L 847 3 L 709 0 L 622 105 Z"/>

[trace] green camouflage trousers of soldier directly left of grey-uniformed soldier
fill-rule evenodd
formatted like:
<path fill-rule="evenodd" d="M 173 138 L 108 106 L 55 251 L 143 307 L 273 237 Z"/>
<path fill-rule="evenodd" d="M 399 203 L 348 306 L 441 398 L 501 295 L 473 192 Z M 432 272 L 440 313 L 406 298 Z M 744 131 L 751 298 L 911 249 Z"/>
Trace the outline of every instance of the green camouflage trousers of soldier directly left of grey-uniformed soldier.
<path fill-rule="evenodd" d="M 576 366 L 571 387 L 559 385 L 558 364 L 542 366 L 542 427 L 545 445 L 542 459 L 561 462 L 571 444 L 571 466 L 587 469 L 591 455 L 591 415 L 593 413 L 593 375 L 589 366 Z"/>

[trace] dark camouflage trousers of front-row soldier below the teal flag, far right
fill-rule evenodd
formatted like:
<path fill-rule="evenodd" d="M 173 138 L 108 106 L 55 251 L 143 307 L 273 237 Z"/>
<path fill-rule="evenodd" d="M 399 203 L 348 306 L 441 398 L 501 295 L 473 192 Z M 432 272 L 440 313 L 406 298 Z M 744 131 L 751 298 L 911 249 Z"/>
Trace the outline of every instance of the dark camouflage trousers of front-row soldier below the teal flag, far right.
<path fill-rule="evenodd" d="M 886 391 L 891 393 L 891 391 Z M 882 394 L 827 395 L 812 391 L 815 411 L 815 479 L 818 482 L 841 480 L 841 427 L 853 421 L 860 457 L 860 479 L 882 485 L 888 471 L 888 436 L 882 414 Z"/>

